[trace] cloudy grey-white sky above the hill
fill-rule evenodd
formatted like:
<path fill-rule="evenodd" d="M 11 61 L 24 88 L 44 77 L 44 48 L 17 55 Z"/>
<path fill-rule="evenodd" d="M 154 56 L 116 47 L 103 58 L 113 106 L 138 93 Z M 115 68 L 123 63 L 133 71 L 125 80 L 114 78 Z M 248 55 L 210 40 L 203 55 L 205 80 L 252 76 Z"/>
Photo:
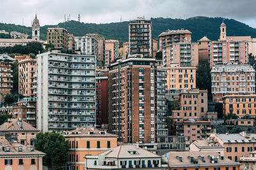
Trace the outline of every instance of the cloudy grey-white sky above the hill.
<path fill-rule="evenodd" d="M 70 15 L 81 22 L 110 23 L 145 16 L 234 18 L 256 27 L 255 0 L 1 0 L 0 22 L 30 26 L 37 13 L 40 25 L 58 24 Z"/>

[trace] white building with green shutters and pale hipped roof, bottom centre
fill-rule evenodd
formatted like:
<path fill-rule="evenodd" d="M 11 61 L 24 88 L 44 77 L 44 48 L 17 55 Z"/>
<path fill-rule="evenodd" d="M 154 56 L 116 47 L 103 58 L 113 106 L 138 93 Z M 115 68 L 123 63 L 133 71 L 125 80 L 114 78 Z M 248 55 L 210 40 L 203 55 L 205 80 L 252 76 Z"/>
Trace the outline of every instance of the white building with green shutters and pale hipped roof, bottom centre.
<path fill-rule="evenodd" d="M 86 169 L 166 169 L 161 156 L 138 145 L 120 145 L 97 156 L 86 155 Z"/>

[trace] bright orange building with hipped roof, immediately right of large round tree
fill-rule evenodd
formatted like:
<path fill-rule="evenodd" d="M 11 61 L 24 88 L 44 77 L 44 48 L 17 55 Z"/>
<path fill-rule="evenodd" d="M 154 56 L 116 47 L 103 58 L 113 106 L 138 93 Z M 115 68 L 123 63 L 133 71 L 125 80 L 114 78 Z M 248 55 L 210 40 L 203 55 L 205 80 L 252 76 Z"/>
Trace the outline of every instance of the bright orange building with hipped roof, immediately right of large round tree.
<path fill-rule="evenodd" d="M 72 169 L 84 170 L 86 155 L 99 155 L 117 146 L 117 136 L 93 127 L 79 127 L 66 131 L 64 137 L 69 141 L 68 164 Z"/>

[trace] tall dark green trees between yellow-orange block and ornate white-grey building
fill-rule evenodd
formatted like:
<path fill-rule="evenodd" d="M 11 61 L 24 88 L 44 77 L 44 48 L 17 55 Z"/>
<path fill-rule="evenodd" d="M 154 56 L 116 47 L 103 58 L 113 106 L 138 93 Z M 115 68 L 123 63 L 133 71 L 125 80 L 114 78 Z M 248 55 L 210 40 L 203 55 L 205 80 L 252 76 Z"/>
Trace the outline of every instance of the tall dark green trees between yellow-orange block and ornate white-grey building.
<path fill-rule="evenodd" d="M 208 90 L 208 99 L 211 99 L 211 73 L 210 64 L 207 60 L 198 62 L 196 70 L 196 88 Z"/>

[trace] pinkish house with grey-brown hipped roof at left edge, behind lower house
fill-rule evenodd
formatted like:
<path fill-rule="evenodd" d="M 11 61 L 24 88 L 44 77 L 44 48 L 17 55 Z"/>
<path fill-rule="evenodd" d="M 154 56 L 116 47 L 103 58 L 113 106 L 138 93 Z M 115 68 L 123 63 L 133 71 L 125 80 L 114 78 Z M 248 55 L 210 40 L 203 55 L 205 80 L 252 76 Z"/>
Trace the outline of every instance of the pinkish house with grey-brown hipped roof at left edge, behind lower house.
<path fill-rule="evenodd" d="M 34 145 L 36 134 L 40 131 L 20 118 L 11 118 L 0 125 L 0 132 L 17 137 L 22 145 Z"/>

